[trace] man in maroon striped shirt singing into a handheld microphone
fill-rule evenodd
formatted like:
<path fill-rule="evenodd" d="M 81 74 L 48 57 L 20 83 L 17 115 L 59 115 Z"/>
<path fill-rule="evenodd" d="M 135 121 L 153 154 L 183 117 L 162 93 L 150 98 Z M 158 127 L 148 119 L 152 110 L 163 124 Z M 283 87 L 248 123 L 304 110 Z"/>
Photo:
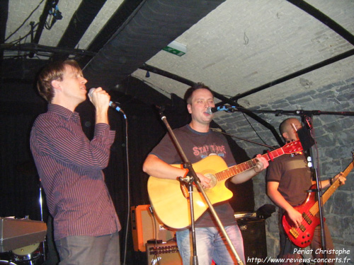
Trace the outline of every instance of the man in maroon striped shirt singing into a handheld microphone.
<path fill-rule="evenodd" d="M 40 72 L 38 91 L 48 110 L 35 120 L 30 148 L 53 217 L 60 265 L 120 264 L 120 222 L 105 185 L 115 131 L 108 124 L 110 96 L 89 97 L 96 126 L 89 141 L 74 112 L 86 100 L 87 80 L 76 61 L 57 61 Z"/>

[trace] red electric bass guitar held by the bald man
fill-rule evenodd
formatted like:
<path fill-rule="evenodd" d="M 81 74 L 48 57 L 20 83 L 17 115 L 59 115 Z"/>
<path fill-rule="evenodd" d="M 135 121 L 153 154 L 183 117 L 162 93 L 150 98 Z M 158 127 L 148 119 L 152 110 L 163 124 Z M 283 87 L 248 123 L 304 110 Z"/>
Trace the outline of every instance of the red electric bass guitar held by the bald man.
<path fill-rule="evenodd" d="M 347 177 L 349 172 L 353 170 L 354 160 L 348 165 L 346 170 L 343 171 L 342 177 Z M 322 194 L 322 204 L 325 204 L 326 201 L 332 196 L 333 192 L 336 192 L 336 189 L 339 187 L 339 179 L 336 179 L 331 186 L 326 189 L 326 192 Z M 316 184 L 313 184 L 310 188 L 310 191 L 316 190 Z M 320 219 L 317 217 L 319 212 L 319 201 L 316 199 L 316 192 L 309 192 L 307 198 L 304 202 L 294 207 L 296 211 L 302 214 L 304 218 L 302 220 L 299 228 L 296 228 L 295 224 L 290 220 L 287 213 L 282 216 L 282 227 L 287 234 L 287 237 L 296 245 L 297 247 L 307 247 L 311 244 L 312 239 L 314 238 L 314 228 L 320 224 Z"/>

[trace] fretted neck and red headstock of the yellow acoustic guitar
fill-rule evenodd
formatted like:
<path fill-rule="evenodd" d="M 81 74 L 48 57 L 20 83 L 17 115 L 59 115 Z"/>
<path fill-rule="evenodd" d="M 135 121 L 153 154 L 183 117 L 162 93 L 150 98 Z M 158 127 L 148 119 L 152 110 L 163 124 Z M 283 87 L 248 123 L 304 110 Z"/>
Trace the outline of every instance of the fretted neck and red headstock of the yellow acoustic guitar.
<path fill-rule="evenodd" d="M 273 158 L 278 158 L 278 156 L 284 155 L 284 154 L 285 154 L 285 151 L 283 150 L 283 147 L 281 147 L 276 150 L 265 153 L 262 156 L 267 161 L 269 161 L 269 160 L 273 160 Z M 246 161 L 244 163 L 229 167 L 227 170 L 224 170 L 222 172 L 218 172 L 215 175 L 217 176 L 217 179 L 220 181 L 223 179 L 228 179 L 229 177 L 234 177 L 234 175 L 237 175 L 237 174 L 244 172 L 246 170 L 250 170 L 251 168 L 256 167 L 256 165 L 257 165 L 257 160 L 256 160 L 256 158 L 253 158 L 253 159 Z"/>

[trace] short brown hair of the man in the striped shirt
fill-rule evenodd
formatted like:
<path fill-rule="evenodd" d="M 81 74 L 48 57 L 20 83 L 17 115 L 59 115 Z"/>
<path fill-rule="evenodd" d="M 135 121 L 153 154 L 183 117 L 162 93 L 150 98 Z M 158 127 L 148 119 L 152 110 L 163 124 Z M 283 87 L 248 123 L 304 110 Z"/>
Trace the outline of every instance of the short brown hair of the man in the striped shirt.
<path fill-rule="evenodd" d="M 47 102 L 52 102 L 52 99 L 54 98 L 52 81 L 63 80 L 63 74 L 66 65 L 72 66 L 81 72 L 81 68 L 77 63 L 77 61 L 65 60 L 65 61 L 54 61 L 48 64 L 38 74 L 38 81 L 37 81 L 38 92 L 43 98 L 45 98 L 45 100 L 47 100 Z"/>

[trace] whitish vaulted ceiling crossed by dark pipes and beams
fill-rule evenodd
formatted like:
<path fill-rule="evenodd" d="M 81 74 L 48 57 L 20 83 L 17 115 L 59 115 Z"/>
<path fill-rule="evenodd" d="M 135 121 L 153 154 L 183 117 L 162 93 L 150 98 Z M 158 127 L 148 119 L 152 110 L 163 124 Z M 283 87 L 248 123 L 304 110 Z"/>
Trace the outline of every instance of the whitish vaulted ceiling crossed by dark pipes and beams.
<path fill-rule="evenodd" d="M 51 30 L 43 31 L 40 45 L 57 45 L 80 2 L 59 0 L 63 19 L 57 20 Z M 76 48 L 88 47 L 121 3 L 121 0 L 108 0 Z M 307 3 L 354 34 L 353 0 L 307 0 Z M 38 23 L 44 5 L 43 0 L 9 1 L 6 38 L 25 18 L 30 18 L 6 43 L 25 36 L 30 31 L 30 21 Z M 343 37 L 285 0 L 227 0 L 176 41 L 187 46 L 186 54 L 178 57 L 161 51 L 146 64 L 190 81 L 203 82 L 227 98 L 353 49 Z M 30 42 L 30 37 L 21 42 Z M 13 53 L 6 51 L 5 55 Z M 352 78 L 353 69 L 352 56 L 241 98 L 239 103 L 255 107 L 284 95 L 301 95 L 304 91 Z M 182 97 L 188 88 L 154 73 L 150 73 L 149 78 L 145 75 L 146 71 L 139 69 L 132 73 L 165 95 L 175 93 Z"/>

